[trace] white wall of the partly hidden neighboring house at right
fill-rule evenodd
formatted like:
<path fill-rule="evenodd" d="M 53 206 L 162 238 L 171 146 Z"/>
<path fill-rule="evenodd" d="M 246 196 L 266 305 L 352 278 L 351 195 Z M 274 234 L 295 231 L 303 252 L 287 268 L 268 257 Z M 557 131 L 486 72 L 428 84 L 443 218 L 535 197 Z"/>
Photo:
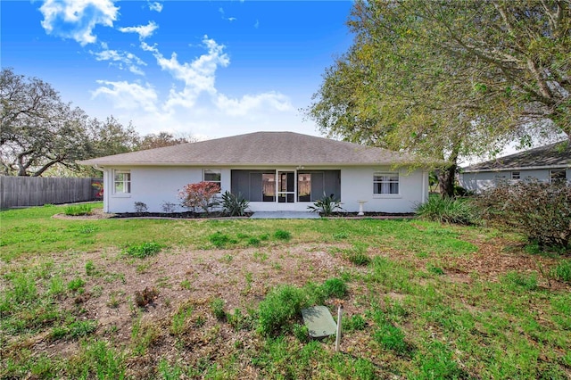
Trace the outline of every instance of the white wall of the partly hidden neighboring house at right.
<path fill-rule="evenodd" d="M 480 193 L 496 186 L 499 181 L 511 180 L 511 172 L 518 171 L 520 179 L 537 179 L 539 181 L 550 180 L 550 169 L 522 169 L 502 171 L 480 171 L 474 173 L 462 173 L 459 176 L 459 184 L 469 191 Z M 567 169 L 567 180 L 571 178 L 571 169 Z"/>

